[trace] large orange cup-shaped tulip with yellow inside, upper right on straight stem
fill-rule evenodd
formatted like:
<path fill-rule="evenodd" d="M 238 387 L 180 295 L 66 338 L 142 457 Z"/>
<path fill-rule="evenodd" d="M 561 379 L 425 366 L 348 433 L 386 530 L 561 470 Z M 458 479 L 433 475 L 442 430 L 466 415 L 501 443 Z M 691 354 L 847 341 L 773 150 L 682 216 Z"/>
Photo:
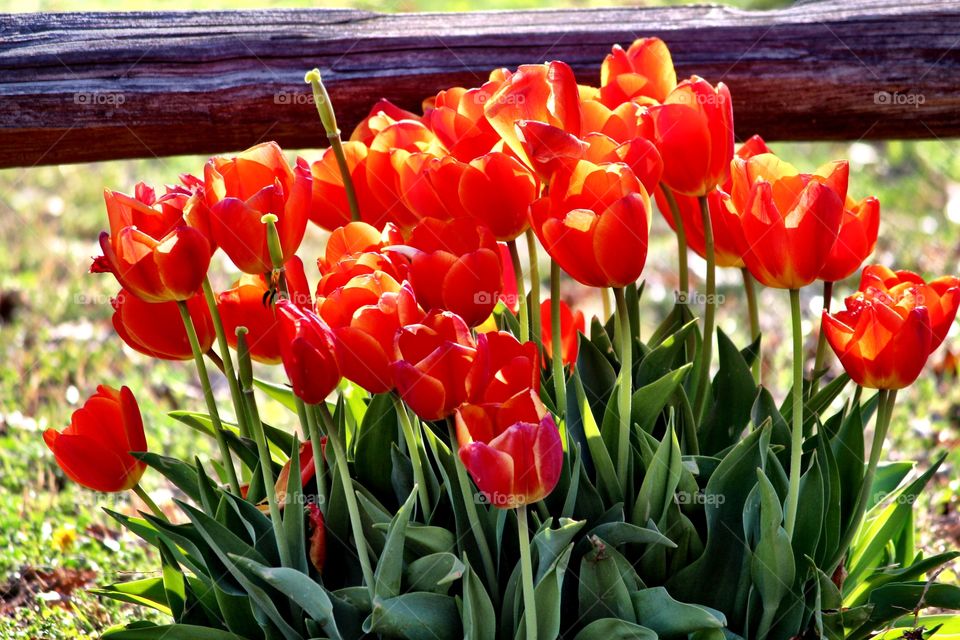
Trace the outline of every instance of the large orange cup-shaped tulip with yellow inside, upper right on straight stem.
<path fill-rule="evenodd" d="M 801 174 L 764 153 L 735 159 L 732 173 L 730 203 L 743 231 L 740 253 L 753 277 L 778 289 L 816 280 L 837 240 L 847 163 Z"/>

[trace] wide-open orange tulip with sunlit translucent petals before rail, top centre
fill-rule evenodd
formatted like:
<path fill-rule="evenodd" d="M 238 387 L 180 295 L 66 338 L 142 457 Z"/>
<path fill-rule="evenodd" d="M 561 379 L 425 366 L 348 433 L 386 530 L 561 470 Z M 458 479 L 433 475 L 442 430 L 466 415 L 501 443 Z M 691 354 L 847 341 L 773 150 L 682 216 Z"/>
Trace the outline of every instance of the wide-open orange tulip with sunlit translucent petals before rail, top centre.
<path fill-rule="evenodd" d="M 580 96 L 573 70 L 564 62 L 521 65 L 483 105 L 494 130 L 518 157 L 533 166 L 516 125 L 536 120 L 580 135 Z"/>

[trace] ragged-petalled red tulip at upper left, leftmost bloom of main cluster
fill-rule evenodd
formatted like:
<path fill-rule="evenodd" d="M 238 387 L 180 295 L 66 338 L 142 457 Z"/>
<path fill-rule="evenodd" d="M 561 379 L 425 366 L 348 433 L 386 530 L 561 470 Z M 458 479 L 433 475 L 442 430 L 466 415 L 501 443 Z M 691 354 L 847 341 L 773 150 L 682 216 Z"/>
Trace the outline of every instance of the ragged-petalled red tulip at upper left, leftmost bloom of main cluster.
<path fill-rule="evenodd" d="M 124 289 L 146 302 L 187 300 L 210 266 L 212 248 L 203 232 L 187 226 L 182 209 L 153 189 L 137 185 L 136 197 L 105 191 L 110 232 L 100 234 L 103 255 L 90 270 L 112 273 Z"/>

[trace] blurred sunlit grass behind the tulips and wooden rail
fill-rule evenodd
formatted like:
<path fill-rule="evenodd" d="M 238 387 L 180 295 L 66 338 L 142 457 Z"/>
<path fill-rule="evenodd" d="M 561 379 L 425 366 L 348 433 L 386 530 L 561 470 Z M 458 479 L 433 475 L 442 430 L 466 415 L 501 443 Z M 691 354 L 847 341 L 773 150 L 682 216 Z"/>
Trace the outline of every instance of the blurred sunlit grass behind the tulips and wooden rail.
<path fill-rule="evenodd" d="M 546 2 L 530 0 L 360 0 L 349 4 L 379 11 L 547 6 Z M 587 0 L 550 6 L 595 4 L 636 3 Z M 789 3 L 741 0 L 728 4 L 766 9 Z M 226 0 L 217 4 L 218 9 L 280 6 L 343 3 Z M 183 8 L 182 2 L 174 0 L 0 0 L 0 12 Z M 600 62 L 597 60 L 598 65 Z M 876 195 L 881 201 L 880 241 L 873 261 L 925 275 L 960 271 L 960 142 L 771 146 L 801 169 L 811 170 L 832 159 L 850 160 L 851 195 L 857 200 Z M 302 154 L 312 160 L 318 152 L 307 150 Z M 0 170 L 0 638 L 97 637 L 105 626 L 142 615 L 132 605 L 101 602 L 82 589 L 126 579 L 131 572 L 154 570 L 155 559 L 132 538 L 123 536 L 100 511 L 104 506 L 132 511 L 136 505 L 131 505 L 127 496 L 96 495 L 65 482 L 43 444 L 41 432 L 66 425 L 70 413 L 98 384 L 127 383 L 140 400 L 153 450 L 190 459 L 203 456 L 209 448 L 207 442 L 199 441 L 165 416 L 174 408 L 202 406 L 192 366 L 151 361 L 125 348 L 110 324 L 109 300 L 117 293 L 116 284 L 113 278 L 87 272 L 91 256 L 98 253 L 97 235 L 106 226 L 105 187 L 128 193 L 139 181 L 160 187 L 174 182 L 180 173 L 200 173 L 205 160 L 177 157 Z M 322 233 L 311 227 L 300 252 L 308 273 L 322 241 Z M 703 263 L 692 258 L 693 286 L 699 287 L 702 284 L 696 276 L 703 274 Z M 233 277 L 226 264 L 217 266 L 221 273 L 215 286 L 225 288 Z M 674 236 L 656 217 L 642 307 L 647 331 L 673 303 L 675 271 Z M 548 272 L 543 265 L 541 273 Z M 316 274 L 312 273 L 315 282 Z M 746 344 L 740 275 L 721 270 L 719 282 L 727 298 L 720 327 L 735 336 L 738 344 Z M 839 304 L 856 284 L 856 278 L 839 283 L 834 304 Z M 598 300 L 583 297 L 585 294 L 595 295 L 583 287 L 565 289 L 569 301 L 588 313 L 596 311 Z M 787 295 L 763 291 L 761 296 L 765 382 L 782 397 L 789 384 L 785 366 L 789 346 L 784 342 L 784 332 L 789 331 L 785 320 L 789 317 Z M 815 319 L 822 300 L 816 287 L 805 296 L 809 370 L 815 348 Z M 901 393 L 888 446 L 889 459 L 916 460 L 921 466 L 935 451 L 953 452 L 936 480 L 935 490 L 918 508 L 923 529 L 918 543 L 929 551 L 960 546 L 960 392 L 956 360 L 950 351 L 960 350 L 956 334 L 954 326 L 920 381 Z M 836 372 L 835 365 L 832 374 Z M 169 493 L 164 493 L 165 487 L 154 475 L 146 476 L 147 488 L 163 501 Z M 949 582 L 951 577 L 942 576 L 941 580 Z"/>

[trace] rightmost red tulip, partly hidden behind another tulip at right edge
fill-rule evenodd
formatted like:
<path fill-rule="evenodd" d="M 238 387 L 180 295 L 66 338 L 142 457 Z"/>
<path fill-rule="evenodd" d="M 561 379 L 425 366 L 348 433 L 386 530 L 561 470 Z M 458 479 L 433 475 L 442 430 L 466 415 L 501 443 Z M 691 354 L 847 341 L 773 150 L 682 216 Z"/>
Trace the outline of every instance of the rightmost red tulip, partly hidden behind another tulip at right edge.
<path fill-rule="evenodd" d="M 947 337 L 960 305 L 960 279 L 955 276 L 942 276 L 928 283 L 912 271 L 893 271 L 879 264 L 864 268 L 860 292 L 866 293 L 857 293 L 848 302 L 867 296 L 886 304 L 926 307 L 933 332 L 931 351 Z"/>

